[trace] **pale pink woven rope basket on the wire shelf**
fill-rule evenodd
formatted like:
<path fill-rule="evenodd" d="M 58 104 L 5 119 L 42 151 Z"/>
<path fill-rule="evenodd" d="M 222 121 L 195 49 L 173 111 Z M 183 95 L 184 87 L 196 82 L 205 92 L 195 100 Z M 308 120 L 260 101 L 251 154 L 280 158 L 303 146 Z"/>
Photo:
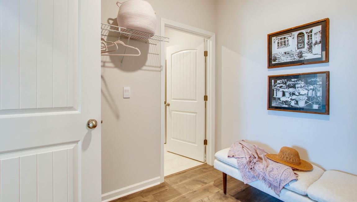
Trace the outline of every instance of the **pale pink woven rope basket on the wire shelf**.
<path fill-rule="evenodd" d="M 156 15 L 147 1 L 129 0 L 123 3 L 118 1 L 117 5 L 119 6 L 117 21 L 120 27 L 155 34 Z"/>

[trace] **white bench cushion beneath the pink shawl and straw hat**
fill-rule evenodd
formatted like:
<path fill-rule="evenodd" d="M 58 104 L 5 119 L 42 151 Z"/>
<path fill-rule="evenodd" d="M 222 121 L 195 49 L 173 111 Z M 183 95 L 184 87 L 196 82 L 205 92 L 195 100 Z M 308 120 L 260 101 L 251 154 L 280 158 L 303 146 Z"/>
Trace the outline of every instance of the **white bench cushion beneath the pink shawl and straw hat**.
<path fill-rule="evenodd" d="M 236 158 L 228 158 L 227 154 L 230 148 L 222 149 L 215 154 L 215 157 L 223 163 L 226 163 L 230 166 L 238 168 Z M 307 194 L 307 188 L 314 183 L 317 179 L 319 179 L 322 174 L 323 170 L 315 165 L 313 166 L 312 171 L 308 172 L 298 172 L 295 171 L 299 177 L 298 180 L 293 180 L 289 182 L 284 188 L 289 189 L 290 191 L 296 192 L 301 195 Z M 228 174 L 228 173 L 227 173 Z M 242 179 L 239 179 L 243 181 Z"/>

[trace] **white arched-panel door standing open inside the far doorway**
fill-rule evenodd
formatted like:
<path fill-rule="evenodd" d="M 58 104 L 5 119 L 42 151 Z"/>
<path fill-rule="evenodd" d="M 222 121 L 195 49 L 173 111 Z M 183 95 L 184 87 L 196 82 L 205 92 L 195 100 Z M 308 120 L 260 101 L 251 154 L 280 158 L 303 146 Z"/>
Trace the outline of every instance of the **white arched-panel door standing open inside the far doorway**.
<path fill-rule="evenodd" d="M 175 45 L 166 49 L 166 148 L 205 161 L 204 42 L 198 47 Z"/>

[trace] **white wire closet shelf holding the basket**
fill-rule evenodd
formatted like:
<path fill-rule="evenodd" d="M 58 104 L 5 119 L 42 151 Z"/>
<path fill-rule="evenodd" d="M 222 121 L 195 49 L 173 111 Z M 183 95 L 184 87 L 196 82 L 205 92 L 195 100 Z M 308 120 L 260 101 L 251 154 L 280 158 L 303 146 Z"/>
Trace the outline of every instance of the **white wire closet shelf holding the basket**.
<path fill-rule="evenodd" d="M 104 37 L 115 37 L 115 38 L 127 38 L 128 40 L 136 40 L 144 43 L 149 43 L 152 45 L 157 45 L 159 42 L 169 42 L 169 38 L 164 36 L 159 36 L 155 34 L 150 34 L 142 31 L 137 31 L 133 29 L 126 29 L 115 25 L 109 25 L 101 23 L 101 36 Z"/>

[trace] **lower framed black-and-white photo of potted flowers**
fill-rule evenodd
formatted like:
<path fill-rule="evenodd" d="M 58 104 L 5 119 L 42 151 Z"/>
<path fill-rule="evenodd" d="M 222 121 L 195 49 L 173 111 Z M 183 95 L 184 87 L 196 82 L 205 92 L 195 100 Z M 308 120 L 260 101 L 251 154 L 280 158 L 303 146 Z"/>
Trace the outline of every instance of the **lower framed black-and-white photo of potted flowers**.
<path fill-rule="evenodd" d="M 268 110 L 329 114 L 330 72 L 268 76 Z"/>

